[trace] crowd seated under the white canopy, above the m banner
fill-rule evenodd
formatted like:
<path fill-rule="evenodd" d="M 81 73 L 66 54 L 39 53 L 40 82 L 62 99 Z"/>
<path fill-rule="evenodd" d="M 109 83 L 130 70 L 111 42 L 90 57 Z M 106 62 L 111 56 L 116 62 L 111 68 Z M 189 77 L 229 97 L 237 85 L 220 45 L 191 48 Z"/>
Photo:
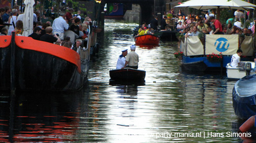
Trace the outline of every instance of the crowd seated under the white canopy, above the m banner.
<path fill-rule="evenodd" d="M 185 16 L 181 10 L 179 10 L 179 19 L 177 20 L 177 31 L 187 36 L 196 36 L 199 33 L 210 35 L 243 35 L 252 36 L 254 34 L 254 24 L 256 19 L 250 23 L 249 27 L 242 25 L 241 18 L 245 15 L 240 10 L 234 13 L 233 18 L 227 19 L 226 23 L 221 23 L 215 18 L 213 13 L 205 14 L 205 17 L 200 16 Z M 197 28 L 197 30 L 196 30 Z M 196 32 L 196 31 L 197 32 Z M 199 33 L 198 33 L 199 32 Z"/>

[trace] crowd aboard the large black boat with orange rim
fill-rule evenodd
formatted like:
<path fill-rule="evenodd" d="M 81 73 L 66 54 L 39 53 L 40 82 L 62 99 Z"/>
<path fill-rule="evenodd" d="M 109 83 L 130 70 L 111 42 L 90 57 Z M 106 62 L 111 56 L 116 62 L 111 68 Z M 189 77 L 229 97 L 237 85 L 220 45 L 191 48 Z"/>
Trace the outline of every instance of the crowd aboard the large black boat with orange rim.
<path fill-rule="evenodd" d="M 79 39 L 87 37 L 91 22 L 89 17 L 81 22 L 79 13 L 80 11 L 77 11 L 77 14 L 74 14 L 74 10 L 69 8 L 68 12 L 61 11 L 59 17 L 53 19 L 53 23 L 50 20 L 42 23 L 39 21 L 39 14 L 35 11 L 33 15 L 33 33 L 29 37 L 77 49 L 77 43 L 80 43 L 80 45 L 82 43 Z M 20 11 L 19 6 L 14 6 L 13 9 L 9 6 L 0 8 L 0 36 L 11 35 L 13 31 L 17 36 L 22 36 L 23 20 L 24 13 Z"/>

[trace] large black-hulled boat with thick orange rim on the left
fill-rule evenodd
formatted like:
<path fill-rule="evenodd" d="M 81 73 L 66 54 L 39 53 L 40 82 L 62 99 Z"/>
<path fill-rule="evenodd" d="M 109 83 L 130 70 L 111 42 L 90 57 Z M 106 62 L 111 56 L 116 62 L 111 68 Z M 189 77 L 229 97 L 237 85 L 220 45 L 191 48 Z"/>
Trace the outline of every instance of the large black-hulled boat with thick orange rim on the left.
<path fill-rule="evenodd" d="M 23 36 L 1 36 L 1 91 L 77 91 L 87 81 L 90 48 L 69 48 Z"/>

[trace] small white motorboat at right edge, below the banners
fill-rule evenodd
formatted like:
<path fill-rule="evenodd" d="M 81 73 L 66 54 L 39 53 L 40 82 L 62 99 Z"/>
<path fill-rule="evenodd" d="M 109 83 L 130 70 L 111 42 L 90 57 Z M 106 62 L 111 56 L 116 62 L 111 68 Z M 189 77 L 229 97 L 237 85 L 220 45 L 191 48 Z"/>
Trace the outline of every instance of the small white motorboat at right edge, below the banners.
<path fill-rule="evenodd" d="M 230 64 L 231 63 L 228 63 L 226 65 L 227 78 L 228 79 L 240 79 L 240 78 L 243 78 L 244 76 L 246 76 L 246 72 L 247 72 L 247 75 L 255 73 L 255 71 L 253 70 L 254 67 L 255 67 L 255 63 L 254 62 L 243 61 L 243 62 L 240 62 L 239 66 L 236 67 L 236 68 L 231 67 Z"/>

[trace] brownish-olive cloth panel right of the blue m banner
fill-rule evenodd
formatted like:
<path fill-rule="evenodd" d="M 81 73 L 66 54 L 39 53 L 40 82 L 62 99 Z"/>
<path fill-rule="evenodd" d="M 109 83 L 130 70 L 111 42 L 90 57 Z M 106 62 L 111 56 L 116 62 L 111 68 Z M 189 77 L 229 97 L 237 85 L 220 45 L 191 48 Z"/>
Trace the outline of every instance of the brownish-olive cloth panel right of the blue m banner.
<path fill-rule="evenodd" d="M 253 54 L 253 38 L 252 36 L 245 36 L 243 43 L 241 44 L 242 55 L 252 56 Z"/>

